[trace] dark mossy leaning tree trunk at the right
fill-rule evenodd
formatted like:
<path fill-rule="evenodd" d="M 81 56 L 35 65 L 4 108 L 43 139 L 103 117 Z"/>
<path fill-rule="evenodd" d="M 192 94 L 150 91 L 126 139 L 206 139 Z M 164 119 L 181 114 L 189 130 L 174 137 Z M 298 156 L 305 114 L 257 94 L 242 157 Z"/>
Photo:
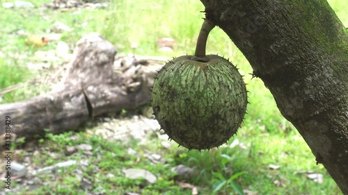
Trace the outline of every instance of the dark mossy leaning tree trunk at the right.
<path fill-rule="evenodd" d="M 201 0 L 348 194 L 348 31 L 325 0 Z"/>

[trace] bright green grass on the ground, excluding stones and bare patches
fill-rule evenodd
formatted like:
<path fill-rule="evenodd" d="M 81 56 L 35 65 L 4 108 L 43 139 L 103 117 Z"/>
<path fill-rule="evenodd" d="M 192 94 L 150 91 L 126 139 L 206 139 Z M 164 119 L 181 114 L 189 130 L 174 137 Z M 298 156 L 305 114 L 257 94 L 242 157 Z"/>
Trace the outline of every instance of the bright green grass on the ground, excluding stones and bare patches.
<path fill-rule="evenodd" d="M 31 2 L 39 7 L 48 0 Z M 331 0 L 329 3 L 342 22 L 348 26 L 346 13 L 348 3 L 339 0 Z M 26 38 L 13 34 L 15 31 L 24 30 L 31 34 L 45 33 L 56 20 L 59 20 L 74 28 L 72 32 L 63 33 L 62 38 L 71 45 L 82 35 L 96 31 L 115 44 L 118 52 L 180 56 L 193 53 L 201 18 L 204 17 L 203 13 L 200 13 L 201 10 L 204 8 L 198 0 L 120 0 L 114 1 L 108 9 L 81 10 L 80 12 L 38 8 L 26 10 L 0 8 L 0 24 L 3 26 L 0 30 L 0 88 L 31 80 L 39 74 L 38 71 L 32 71 L 26 67 L 26 63 L 30 62 L 31 56 L 38 48 L 24 44 Z M 159 51 L 156 40 L 161 37 L 173 37 L 176 41 L 174 53 Z M 136 49 L 132 49 L 133 43 L 138 44 Z M 52 42 L 40 50 L 54 49 L 55 44 Z M 244 189 L 258 191 L 258 194 L 341 194 L 322 165 L 315 164 L 315 157 L 310 153 L 303 138 L 280 115 L 273 97 L 262 81 L 251 80 L 250 65 L 221 29 L 214 28 L 209 35 L 207 51 L 230 58 L 239 67 L 241 74 L 246 76 L 251 104 L 248 105 L 248 115 L 236 137 L 246 146 L 246 149 L 221 147 L 216 152 L 198 153 L 187 152 L 173 146 L 166 150 L 153 136 L 152 142 L 139 146 L 136 142 L 126 145 L 121 142 L 108 142 L 95 135 L 90 136 L 81 132 L 77 133 L 79 139 L 76 140 L 70 139 L 73 133 L 49 135 L 47 139 L 41 140 L 40 146 L 47 147 L 48 151 L 63 153 L 63 147 L 66 144 L 73 146 L 87 143 L 95 149 L 93 156 L 86 158 L 81 157 L 82 155 L 69 157 L 62 155 L 61 159 L 53 159 L 47 151 L 36 156 L 35 160 L 38 163 L 44 162 L 42 166 L 49 166 L 68 159 L 86 158 L 90 162 L 90 167 L 82 171 L 85 176 L 93 180 L 92 191 L 104 194 L 124 194 L 125 192 L 191 194 L 189 189 L 178 187 L 173 180 L 173 173 L 168 171 L 177 164 L 195 167 L 199 171 L 198 177 L 190 180 L 189 183 L 198 186 L 202 194 L 212 194 L 212 190 L 217 189 L 219 184 L 221 188 L 216 194 L 237 194 L 236 189 L 239 185 Z M 25 87 L 3 95 L 1 103 L 28 99 L 40 93 L 42 93 L 40 86 Z M 166 164 L 154 166 L 149 160 L 143 158 L 137 162 L 134 156 L 125 153 L 129 147 L 138 153 L 144 153 L 145 149 L 151 153 L 159 153 L 166 158 Z M 101 160 L 95 158 L 97 154 L 102 154 Z M 271 170 L 267 167 L 269 164 L 277 164 L 281 167 L 278 170 Z M 161 179 L 154 185 L 144 185 L 141 180 L 124 178 L 120 171 L 122 167 L 143 167 Z M 63 169 L 61 173 L 58 173 L 58 179 L 50 182 L 49 185 L 42 185 L 38 189 L 31 192 L 24 191 L 22 194 L 86 194 L 86 191 L 79 188 L 81 181 L 75 178 L 75 168 L 73 166 Z M 94 173 L 93 169 L 102 171 Z M 322 173 L 324 183 L 315 183 L 308 179 L 306 174 L 296 174 L 296 171 Z M 113 173 L 116 177 L 106 178 L 105 173 Z M 47 180 L 50 179 L 47 178 Z M 276 181 L 279 183 L 277 184 Z"/>

